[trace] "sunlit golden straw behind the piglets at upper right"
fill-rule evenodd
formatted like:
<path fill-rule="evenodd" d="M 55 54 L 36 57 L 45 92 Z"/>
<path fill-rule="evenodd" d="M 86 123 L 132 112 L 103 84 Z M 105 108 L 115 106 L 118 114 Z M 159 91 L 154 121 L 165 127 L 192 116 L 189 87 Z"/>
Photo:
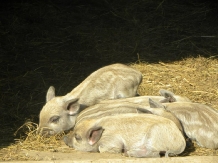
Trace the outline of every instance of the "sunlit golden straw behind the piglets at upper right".
<path fill-rule="evenodd" d="M 187 58 L 173 63 L 134 64 L 140 70 L 143 95 L 158 95 L 159 89 L 187 96 L 193 102 L 211 105 L 218 109 L 218 62 L 213 58 Z"/>

